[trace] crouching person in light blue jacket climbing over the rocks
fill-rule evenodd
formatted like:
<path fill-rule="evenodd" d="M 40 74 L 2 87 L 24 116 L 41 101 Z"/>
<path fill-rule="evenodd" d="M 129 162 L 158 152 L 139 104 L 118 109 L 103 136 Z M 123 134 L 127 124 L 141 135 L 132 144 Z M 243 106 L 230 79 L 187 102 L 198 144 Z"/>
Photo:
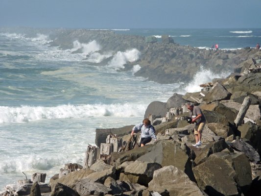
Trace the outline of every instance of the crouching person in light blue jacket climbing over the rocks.
<path fill-rule="evenodd" d="M 150 121 L 148 119 L 144 119 L 142 123 L 139 123 L 135 125 L 132 129 L 131 135 L 134 134 L 134 131 L 141 130 L 141 147 L 143 147 L 145 144 L 149 143 L 151 141 L 151 138 L 153 138 L 155 141 L 157 141 L 157 137 L 155 135 L 155 128 L 151 125 Z"/>

